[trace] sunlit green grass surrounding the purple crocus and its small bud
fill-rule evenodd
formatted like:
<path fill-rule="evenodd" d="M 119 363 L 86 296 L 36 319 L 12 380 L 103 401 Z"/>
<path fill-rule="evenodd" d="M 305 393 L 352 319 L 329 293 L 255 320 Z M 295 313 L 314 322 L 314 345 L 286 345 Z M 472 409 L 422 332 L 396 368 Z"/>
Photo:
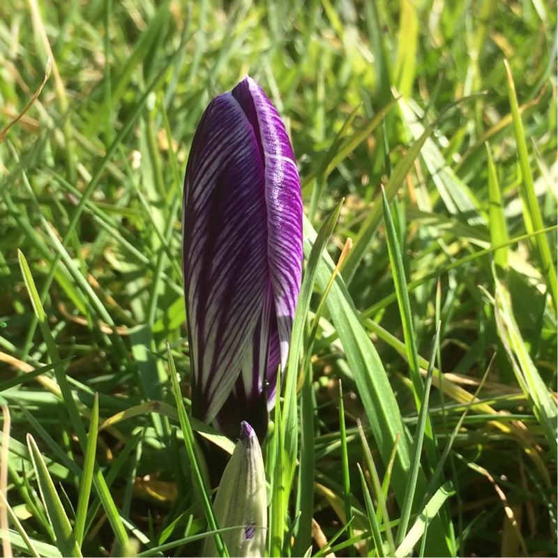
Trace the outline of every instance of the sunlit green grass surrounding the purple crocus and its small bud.
<path fill-rule="evenodd" d="M 555 28 L 529 0 L 1 3 L 0 127 L 52 60 L 0 144 L 3 555 L 219 543 L 182 180 L 250 73 L 306 215 L 269 554 L 555 556 Z"/>

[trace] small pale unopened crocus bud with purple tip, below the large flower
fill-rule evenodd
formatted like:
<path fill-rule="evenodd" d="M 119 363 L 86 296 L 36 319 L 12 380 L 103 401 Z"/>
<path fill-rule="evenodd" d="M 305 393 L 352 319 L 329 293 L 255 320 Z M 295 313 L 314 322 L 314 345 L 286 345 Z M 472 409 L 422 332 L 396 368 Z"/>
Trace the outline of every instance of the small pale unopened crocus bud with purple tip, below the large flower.
<path fill-rule="evenodd" d="M 217 524 L 229 556 L 264 556 L 267 530 L 266 477 L 262 450 L 253 428 L 241 423 L 240 439 L 225 467 L 215 503 Z M 204 556 L 216 556 L 213 537 L 206 538 Z"/>

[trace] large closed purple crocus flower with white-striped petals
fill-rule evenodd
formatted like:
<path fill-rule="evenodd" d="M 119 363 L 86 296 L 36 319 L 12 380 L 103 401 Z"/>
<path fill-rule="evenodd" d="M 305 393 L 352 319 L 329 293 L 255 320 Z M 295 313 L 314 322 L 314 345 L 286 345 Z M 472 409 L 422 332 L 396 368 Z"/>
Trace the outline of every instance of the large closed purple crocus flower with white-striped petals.
<path fill-rule="evenodd" d="M 263 440 L 302 268 L 299 174 L 277 110 L 245 77 L 214 98 L 184 183 L 183 272 L 192 414 Z"/>

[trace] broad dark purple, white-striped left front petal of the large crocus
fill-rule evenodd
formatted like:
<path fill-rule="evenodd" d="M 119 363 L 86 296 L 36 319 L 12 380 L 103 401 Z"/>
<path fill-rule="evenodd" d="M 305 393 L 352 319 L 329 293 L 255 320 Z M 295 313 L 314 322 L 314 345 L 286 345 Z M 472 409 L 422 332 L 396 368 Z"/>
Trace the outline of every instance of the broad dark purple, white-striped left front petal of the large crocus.
<path fill-rule="evenodd" d="M 231 93 L 194 137 L 184 187 L 183 271 L 193 414 L 210 422 L 241 370 L 262 313 L 267 210 L 254 130 Z"/>

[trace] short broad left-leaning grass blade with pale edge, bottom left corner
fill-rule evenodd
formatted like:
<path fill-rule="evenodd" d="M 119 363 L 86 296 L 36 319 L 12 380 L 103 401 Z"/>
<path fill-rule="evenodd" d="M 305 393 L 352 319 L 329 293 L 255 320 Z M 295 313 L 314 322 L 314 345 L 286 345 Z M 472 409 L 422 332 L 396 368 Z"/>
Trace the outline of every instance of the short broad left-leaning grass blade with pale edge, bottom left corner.
<path fill-rule="evenodd" d="M 45 504 L 48 520 L 54 531 L 56 545 L 63 556 L 81 557 L 80 548 L 72 536 L 70 520 L 68 520 L 56 488 L 54 488 L 54 483 L 43 461 L 43 457 L 40 455 L 37 444 L 30 434 L 27 435 L 27 447 L 29 448 L 29 455 L 31 455 L 31 461 L 33 462 L 33 468 L 35 469 L 40 495 L 43 499 L 43 504 Z"/>

